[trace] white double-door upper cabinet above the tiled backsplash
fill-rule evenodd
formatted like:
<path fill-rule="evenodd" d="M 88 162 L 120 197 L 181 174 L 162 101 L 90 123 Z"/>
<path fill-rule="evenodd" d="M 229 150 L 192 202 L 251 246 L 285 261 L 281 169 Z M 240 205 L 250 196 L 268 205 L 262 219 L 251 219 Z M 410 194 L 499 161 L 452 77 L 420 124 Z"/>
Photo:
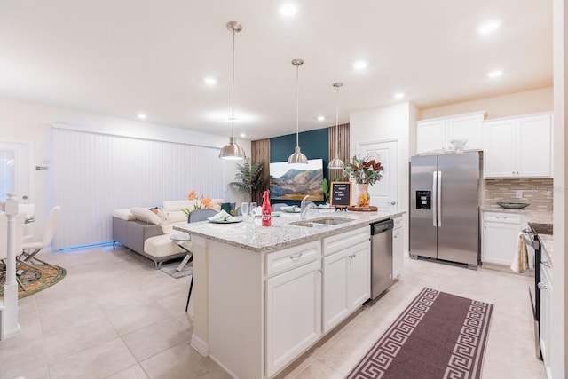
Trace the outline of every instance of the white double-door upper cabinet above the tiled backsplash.
<path fill-rule="evenodd" d="M 485 178 L 551 178 L 552 115 L 485 122 Z"/>

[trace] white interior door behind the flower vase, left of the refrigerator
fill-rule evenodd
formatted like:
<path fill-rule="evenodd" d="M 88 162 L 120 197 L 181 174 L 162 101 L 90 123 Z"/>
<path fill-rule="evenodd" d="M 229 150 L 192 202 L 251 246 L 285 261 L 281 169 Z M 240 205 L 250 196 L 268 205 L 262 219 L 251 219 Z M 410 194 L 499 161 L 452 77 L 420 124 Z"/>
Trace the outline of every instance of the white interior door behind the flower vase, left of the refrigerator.
<path fill-rule="evenodd" d="M 384 167 L 383 178 L 369 186 L 371 205 L 379 209 L 398 210 L 398 141 L 370 142 L 357 144 L 357 154 L 365 157 L 373 153 L 378 155 Z M 357 194 L 359 196 L 359 193 Z"/>

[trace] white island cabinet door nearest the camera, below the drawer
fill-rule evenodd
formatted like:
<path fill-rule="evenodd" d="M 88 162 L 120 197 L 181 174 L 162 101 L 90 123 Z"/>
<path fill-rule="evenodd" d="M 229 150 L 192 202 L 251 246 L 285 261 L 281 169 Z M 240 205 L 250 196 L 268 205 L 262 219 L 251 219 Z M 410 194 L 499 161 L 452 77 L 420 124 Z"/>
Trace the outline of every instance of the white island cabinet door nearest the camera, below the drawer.
<path fill-rule="evenodd" d="M 267 279 L 266 375 L 287 366 L 319 336 L 321 260 Z"/>

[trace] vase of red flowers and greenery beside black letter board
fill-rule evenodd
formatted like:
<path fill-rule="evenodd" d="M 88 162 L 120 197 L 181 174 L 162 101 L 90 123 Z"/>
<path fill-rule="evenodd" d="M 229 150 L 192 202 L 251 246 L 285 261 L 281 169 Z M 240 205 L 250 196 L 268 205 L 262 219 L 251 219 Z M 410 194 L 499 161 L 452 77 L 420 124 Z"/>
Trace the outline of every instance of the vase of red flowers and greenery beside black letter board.
<path fill-rule="evenodd" d="M 383 178 L 384 167 L 376 154 L 368 154 L 365 158 L 353 155 L 351 162 L 343 166 L 343 176 L 355 180 L 359 190 L 359 207 L 368 207 L 370 196 L 368 187 L 373 186 Z"/>

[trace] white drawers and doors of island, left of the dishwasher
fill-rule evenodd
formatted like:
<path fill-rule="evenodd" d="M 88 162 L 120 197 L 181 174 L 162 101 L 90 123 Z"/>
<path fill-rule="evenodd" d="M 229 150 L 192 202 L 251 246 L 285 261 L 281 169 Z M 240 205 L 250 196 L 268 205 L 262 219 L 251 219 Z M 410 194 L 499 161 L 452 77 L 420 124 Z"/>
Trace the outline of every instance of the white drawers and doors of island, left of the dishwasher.
<path fill-rule="evenodd" d="M 370 297 L 369 232 L 365 226 L 266 255 L 266 377 L 288 366 Z"/>

